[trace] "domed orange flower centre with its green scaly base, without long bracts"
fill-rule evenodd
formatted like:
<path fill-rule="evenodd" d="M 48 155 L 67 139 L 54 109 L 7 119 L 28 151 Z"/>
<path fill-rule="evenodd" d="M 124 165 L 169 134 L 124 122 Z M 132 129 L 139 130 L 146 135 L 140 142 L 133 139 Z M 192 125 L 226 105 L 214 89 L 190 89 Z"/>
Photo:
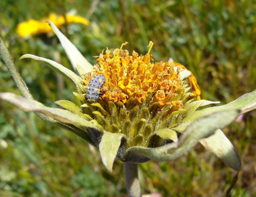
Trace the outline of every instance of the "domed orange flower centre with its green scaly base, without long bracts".
<path fill-rule="evenodd" d="M 191 72 L 175 62 L 153 63 L 150 54 L 153 42 L 148 45 L 146 55 L 138 55 L 135 51 L 129 55 L 128 50 L 123 50 L 126 44 L 120 49 L 102 52 L 93 70 L 81 76 L 85 89 L 95 76 L 103 75 L 106 80 L 101 88 L 102 100 L 99 99 L 101 108 L 85 99 L 82 106 L 86 114 L 104 131 L 124 134 L 126 149 L 137 145 L 158 147 L 167 144 L 168 140 L 176 141 L 175 132 L 172 137 L 161 139 L 158 131 L 175 127 L 182 122 L 180 117 L 186 117 L 182 114 L 187 108 L 185 99 L 192 94 L 188 92 L 187 80 Z M 196 80 L 194 83 L 197 84 Z M 174 118 L 173 114 L 180 116 Z M 156 134 L 158 139 L 155 139 Z"/>

